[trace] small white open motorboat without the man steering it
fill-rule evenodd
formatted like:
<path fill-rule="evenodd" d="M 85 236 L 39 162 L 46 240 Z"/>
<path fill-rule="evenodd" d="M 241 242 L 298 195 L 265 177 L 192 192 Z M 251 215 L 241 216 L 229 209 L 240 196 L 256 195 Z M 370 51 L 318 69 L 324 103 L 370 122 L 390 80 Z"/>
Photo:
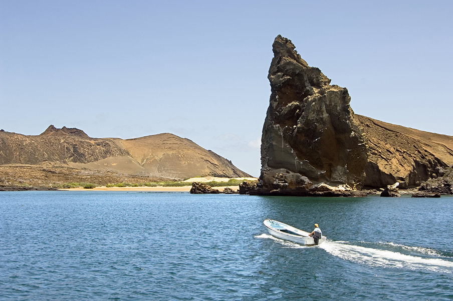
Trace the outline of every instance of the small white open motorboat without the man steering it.
<path fill-rule="evenodd" d="M 266 226 L 266 228 L 268 228 L 269 234 L 271 234 L 272 236 L 275 236 L 280 239 L 289 240 L 292 242 L 297 242 L 300 244 L 315 245 L 313 237 L 309 236 L 310 232 L 305 232 L 303 230 L 300 230 L 298 228 L 292 227 L 290 225 L 287 225 L 285 223 L 273 219 L 265 219 L 263 223 Z M 319 239 L 318 244 L 321 244 L 324 241 L 326 241 L 326 236 L 323 235 Z"/>

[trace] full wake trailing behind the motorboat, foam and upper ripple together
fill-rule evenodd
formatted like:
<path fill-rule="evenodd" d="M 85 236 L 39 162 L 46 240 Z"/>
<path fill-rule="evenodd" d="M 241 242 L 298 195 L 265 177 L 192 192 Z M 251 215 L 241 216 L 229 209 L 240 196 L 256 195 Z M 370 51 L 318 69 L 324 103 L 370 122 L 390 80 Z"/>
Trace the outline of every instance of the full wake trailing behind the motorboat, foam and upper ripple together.
<path fill-rule="evenodd" d="M 359 242 L 357 244 L 361 245 L 346 241 L 326 241 L 319 247 L 331 255 L 368 266 L 453 273 L 453 257 L 442 255 L 441 252 L 434 249 L 391 242 L 377 244 Z"/>

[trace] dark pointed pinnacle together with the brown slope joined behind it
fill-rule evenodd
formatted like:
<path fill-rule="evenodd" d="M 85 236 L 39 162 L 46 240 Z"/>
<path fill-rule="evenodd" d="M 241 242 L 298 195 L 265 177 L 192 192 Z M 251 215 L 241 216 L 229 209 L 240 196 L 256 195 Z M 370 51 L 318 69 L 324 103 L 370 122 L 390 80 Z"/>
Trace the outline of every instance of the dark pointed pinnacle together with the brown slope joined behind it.
<path fill-rule="evenodd" d="M 453 163 L 453 137 L 355 115 L 346 88 L 330 85 L 278 36 L 269 69 L 257 194 L 348 193 L 400 182 L 410 188 Z M 329 192 L 334 194 L 334 192 Z"/>

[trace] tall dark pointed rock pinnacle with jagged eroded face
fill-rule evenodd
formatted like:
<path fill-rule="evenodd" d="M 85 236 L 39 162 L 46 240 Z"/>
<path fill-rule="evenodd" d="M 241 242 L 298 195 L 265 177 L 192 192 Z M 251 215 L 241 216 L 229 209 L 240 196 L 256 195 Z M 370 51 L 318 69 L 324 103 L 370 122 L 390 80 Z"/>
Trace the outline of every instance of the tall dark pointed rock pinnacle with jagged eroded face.
<path fill-rule="evenodd" d="M 304 192 L 322 182 L 360 186 L 367 149 L 347 89 L 330 85 L 290 40 L 278 36 L 273 52 L 259 187 Z"/>

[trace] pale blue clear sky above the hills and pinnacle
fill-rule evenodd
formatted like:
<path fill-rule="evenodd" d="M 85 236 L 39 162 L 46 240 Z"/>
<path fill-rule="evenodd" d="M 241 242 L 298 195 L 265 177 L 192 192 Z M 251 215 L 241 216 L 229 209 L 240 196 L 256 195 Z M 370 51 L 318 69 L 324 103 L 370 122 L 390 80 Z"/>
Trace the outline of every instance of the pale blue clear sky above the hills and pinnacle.
<path fill-rule="evenodd" d="M 0 128 L 172 133 L 261 169 L 282 35 L 356 114 L 453 136 L 452 1 L 0 0 Z"/>

